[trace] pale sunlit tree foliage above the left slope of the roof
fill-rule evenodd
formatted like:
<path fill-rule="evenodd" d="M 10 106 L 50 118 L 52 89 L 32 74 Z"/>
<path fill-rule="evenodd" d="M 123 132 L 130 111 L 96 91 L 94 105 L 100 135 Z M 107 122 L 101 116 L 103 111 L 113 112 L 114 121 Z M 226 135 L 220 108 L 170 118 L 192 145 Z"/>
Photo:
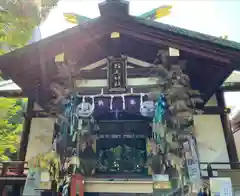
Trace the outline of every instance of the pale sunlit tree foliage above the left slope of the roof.
<path fill-rule="evenodd" d="M 40 2 L 40 3 L 39 3 Z M 0 2 L 0 55 L 25 46 L 58 0 Z"/>

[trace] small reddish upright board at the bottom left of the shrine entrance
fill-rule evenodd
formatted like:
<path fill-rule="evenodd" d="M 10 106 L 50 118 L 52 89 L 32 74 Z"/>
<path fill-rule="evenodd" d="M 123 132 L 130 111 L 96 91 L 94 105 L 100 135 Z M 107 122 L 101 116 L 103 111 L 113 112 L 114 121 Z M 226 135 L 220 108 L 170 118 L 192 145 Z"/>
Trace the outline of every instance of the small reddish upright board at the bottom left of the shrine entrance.
<path fill-rule="evenodd" d="M 84 178 L 82 175 L 73 174 L 71 180 L 70 196 L 84 196 Z"/>

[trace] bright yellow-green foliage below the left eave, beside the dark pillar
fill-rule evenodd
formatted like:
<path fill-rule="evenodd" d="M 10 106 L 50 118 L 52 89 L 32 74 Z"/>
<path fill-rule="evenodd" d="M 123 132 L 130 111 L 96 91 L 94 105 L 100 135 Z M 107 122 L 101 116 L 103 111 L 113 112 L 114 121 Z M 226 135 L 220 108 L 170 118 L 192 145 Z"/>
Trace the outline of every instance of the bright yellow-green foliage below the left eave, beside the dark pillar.
<path fill-rule="evenodd" d="M 23 129 L 23 108 L 26 99 L 1 98 L 0 160 L 11 160 L 17 153 Z"/>

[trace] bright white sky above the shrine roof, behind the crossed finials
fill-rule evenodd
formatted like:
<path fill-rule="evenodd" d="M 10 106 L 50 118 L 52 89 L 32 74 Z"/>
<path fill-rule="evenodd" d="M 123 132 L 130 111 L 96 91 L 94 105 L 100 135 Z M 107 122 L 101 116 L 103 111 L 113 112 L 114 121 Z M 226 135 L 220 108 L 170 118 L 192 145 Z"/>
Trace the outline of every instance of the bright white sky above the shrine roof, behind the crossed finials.
<path fill-rule="evenodd" d="M 64 20 L 64 12 L 99 16 L 101 1 L 61 0 L 41 25 L 43 38 L 74 26 Z M 173 9 L 160 22 L 214 36 L 227 34 L 230 40 L 240 42 L 240 0 L 131 0 L 130 14 L 142 14 L 161 5 L 173 5 Z"/>

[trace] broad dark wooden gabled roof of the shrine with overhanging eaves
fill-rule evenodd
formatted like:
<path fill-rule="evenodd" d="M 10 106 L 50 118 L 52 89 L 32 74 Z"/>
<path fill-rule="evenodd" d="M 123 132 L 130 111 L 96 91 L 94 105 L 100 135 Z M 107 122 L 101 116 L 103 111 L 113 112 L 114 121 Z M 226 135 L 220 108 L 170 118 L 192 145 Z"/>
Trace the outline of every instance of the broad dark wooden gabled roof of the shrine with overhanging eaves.
<path fill-rule="evenodd" d="M 111 39 L 112 32 L 119 32 L 119 39 Z M 187 59 L 186 71 L 192 87 L 200 90 L 207 100 L 237 67 L 239 48 L 235 45 L 230 41 L 140 20 L 124 13 L 111 19 L 103 14 L 85 25 L 9 53 L 1 57 L 0 65 L 2 72 L 23 89 L 24 95 L 46 108 L 51 100 L 49 86 L 54 80 L 56 55 L 64 52 L 65 59 L 74 62 L 80 70 L 107 56 L 121 54 L 153 63 L 157 51 L 170 46 L 179 50 L 180 60 Z M 143 73 L 146 75 L 147 72 L 135 69 L 131 77 Z M 98 72 L 89 74 L 101 77 Z M 76 75 L 83 79 L 87 76 L 84 72 Z"/>

